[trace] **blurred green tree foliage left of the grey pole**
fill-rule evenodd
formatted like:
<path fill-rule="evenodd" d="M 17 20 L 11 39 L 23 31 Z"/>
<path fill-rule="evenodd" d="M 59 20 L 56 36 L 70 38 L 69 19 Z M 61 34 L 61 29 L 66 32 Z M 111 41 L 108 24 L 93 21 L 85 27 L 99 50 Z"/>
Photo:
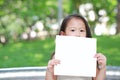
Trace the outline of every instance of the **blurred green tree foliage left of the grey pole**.
<path fill-rule="evenodd" d="M 22 32 L 39 20 L 57 18 L 57 1 L 53 0 L 0 0 L 0 35 L 8 34 L 17 40 Z M 45 26 L 45 29 L 48 27 Z M 29 33 L 28 33 L 29 34 Z"/>

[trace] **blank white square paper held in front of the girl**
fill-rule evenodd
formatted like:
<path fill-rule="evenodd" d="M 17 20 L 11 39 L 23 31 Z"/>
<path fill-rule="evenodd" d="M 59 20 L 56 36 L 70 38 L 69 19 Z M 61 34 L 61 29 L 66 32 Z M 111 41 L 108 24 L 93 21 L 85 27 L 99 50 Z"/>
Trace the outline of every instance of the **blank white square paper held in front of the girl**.
<path fill-rule="evenodd" d="M 56 36 L 55 59 L 60 64 L 54 67 L 55 75 L 96 76 L 96 39 L 74 36 Z"/>

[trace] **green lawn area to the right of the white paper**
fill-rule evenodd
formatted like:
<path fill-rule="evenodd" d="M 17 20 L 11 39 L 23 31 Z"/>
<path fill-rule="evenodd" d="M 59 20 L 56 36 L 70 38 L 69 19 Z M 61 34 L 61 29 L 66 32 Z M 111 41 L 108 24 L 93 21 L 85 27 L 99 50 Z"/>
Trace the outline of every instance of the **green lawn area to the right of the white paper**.
<path fill-rule="evenodd" d="M 120 66 L 120 35 L 99 36 L 97 38 L 98 52 L 102 52 L 107 57 L 107 65 Z"/>

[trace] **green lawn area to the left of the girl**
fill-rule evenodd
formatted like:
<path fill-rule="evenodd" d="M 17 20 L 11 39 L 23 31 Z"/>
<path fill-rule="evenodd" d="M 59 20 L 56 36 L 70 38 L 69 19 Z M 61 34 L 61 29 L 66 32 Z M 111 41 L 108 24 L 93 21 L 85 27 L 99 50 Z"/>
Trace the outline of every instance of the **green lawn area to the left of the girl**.
<path fill-rule="evenodd" d="M 54 40 L 23 41 L 0 48 L 0 67 L 46 66 L 54 49 Z"/>

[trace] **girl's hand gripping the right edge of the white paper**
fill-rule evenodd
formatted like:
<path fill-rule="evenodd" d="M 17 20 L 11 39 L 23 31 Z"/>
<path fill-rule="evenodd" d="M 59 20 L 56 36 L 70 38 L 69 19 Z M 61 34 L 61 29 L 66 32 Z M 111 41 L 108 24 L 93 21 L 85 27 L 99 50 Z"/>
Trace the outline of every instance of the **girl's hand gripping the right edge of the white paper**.
<path fill-rule="evenodd" d="M 97 53 L 95 57 L 97 58 L 100 69 L 106 68 L 106 57 L 101 53 Z"/>

